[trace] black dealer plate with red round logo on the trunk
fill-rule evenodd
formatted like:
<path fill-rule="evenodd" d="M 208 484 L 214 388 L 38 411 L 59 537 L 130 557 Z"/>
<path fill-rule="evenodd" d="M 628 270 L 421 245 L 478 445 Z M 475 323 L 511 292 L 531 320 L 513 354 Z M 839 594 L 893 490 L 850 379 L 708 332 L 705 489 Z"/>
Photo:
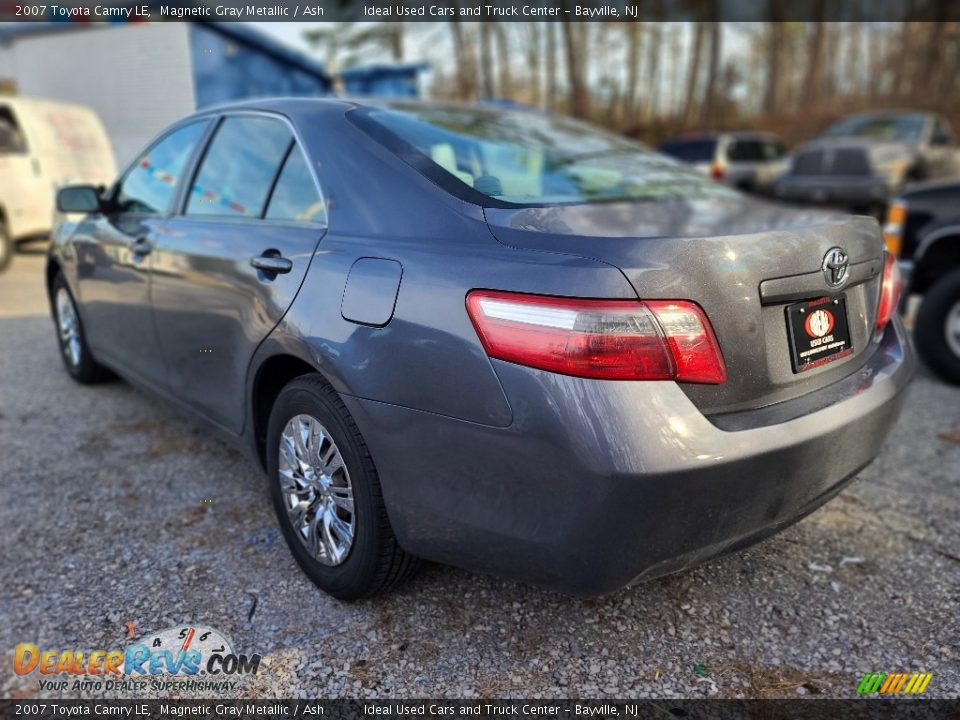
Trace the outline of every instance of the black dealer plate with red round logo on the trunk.
<path fill-rule="evenodd" d="M 795 373 L 850 355 L 846 297 L 833 295 L 788 305 L 787 333 Z"/>

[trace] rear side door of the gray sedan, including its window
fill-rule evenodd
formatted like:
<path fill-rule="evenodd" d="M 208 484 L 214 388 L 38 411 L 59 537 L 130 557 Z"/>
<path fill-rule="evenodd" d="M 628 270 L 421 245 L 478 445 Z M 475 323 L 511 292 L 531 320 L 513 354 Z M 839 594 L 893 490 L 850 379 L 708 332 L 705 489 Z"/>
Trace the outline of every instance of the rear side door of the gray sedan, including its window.
<path fill-rule="evenodd" d="M 292 126 L 220 120 L 154 253 L 153 315 L 174 395 L 243 429 L 253 352 L 300 288 L 326 208 Z"/>

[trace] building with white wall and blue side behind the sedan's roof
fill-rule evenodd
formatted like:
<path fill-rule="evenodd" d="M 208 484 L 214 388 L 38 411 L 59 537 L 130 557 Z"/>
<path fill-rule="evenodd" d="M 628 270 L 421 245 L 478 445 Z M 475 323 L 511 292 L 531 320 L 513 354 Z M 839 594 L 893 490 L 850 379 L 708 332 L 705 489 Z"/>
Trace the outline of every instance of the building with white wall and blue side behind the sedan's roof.
<path fill-rule="evenodd" d="M 0 80 L 22 95 L 92 107 L 121 166 L 197 109 L 333 89 L 307 55 L 240 23 L 213 22 L 0 25 Z"/>

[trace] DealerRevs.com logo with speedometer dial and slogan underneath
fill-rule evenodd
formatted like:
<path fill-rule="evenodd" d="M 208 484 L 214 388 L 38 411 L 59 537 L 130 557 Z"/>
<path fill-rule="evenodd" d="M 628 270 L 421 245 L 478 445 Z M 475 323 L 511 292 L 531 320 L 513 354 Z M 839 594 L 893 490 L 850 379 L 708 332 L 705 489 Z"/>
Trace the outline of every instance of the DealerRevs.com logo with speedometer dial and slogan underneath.
<path fill-rule="evenodd" d="M 191 683 L 195 689 L 228 689 L 236 681 L 225 678 L 256 674 L 260 655 L 242 655 L 219 630 L 202 626 L 167 628 L 115 650 L 44 649 L 32 643 L 14 648 L 13 670 L 17 675 L 39 673 L 41 690 L 145 690 L 167 689 L 181 679 L 206 677 Z M 54 679 L 65 675 L 73 680 Z M 81 676 L 83 679 L 81 679 Z M 179 683 L 182 686 L 182 682 Z"/>

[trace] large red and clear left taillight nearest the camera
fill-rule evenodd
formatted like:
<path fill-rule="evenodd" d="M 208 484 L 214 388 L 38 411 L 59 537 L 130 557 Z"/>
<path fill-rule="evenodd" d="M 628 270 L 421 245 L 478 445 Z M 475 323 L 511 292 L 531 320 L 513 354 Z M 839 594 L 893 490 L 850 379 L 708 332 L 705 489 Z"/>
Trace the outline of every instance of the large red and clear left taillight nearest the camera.
<path fill-rule="evenodd" d="M 605 380 L 727 379 L 710 321 L 686 300 L 580 300 L 474 290 L 467 312 L 490 357 Z"/>

